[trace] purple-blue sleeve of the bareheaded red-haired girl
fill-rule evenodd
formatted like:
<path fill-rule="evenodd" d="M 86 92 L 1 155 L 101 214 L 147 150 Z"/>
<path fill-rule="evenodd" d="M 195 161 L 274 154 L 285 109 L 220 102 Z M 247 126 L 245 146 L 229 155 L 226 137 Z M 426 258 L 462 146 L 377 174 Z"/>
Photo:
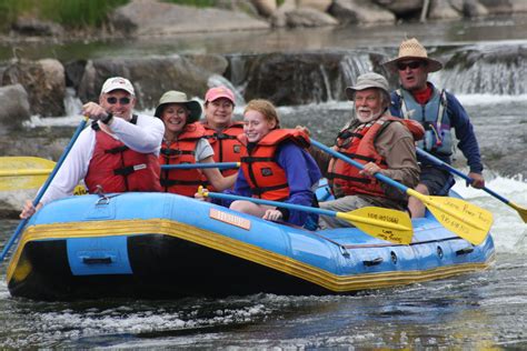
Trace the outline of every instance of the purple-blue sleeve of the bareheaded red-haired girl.
<path fill-rule="evenodd" d="M 311 156 L 292 142 L 284 143 L 277 151 L 277 162 L 286 171 L 289 199 L 285 202 L 310 207 L 314 200 L 311 187 L 322 177 Z M 289 210 L 287 221 L 304 225 L 309 213 Z"/>

